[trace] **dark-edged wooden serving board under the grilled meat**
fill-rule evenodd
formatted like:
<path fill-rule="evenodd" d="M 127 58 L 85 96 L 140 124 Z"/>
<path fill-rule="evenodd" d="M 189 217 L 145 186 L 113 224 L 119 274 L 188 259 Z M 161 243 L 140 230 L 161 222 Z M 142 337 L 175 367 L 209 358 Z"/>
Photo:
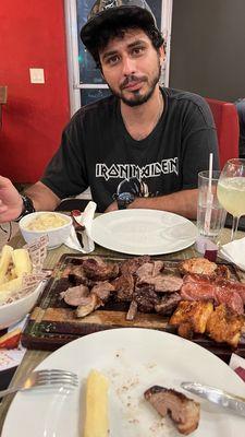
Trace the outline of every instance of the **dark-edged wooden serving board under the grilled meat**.
<path fill-rule="evenodd" d="M 74 308 L 60 299 L 60 293 L 72 286 L 66 277 L 62 277 L 65 269 L 69 264 L 75 263 L 78 258 L 84 257 L 89 258 L 74 253 L 64 253 L 61 257 L 22 334 L 22 344 L 25 347 L 53 351 L 79 336 L 113 328 L 148 328 L 175 333 L 175 329 L 168 324 L 169 317 L 162 315 L 137 312 L 133 321 L 126 320 L 128 304 L 124 303 L 108 303 L 103 308 L 97 309 L 85 318 L 76 318 Z M 132 257 L 103 256 L 102 258 L 118 262 Z M 166 261 L 164 259 L 166 268 L 171 270 L 177 271 L 179 262 L 180 260 Z M 237 270 L 233 265 L 229 268 L 232 276 L 240 280 Z M 193 341 L 225 362 L 230 359 L 232 350 L 228 345 L 218 344 L 206 335 L 196 335 Z M 242 338 L 235 352 L 245 357 L 245 339 Z"/>

